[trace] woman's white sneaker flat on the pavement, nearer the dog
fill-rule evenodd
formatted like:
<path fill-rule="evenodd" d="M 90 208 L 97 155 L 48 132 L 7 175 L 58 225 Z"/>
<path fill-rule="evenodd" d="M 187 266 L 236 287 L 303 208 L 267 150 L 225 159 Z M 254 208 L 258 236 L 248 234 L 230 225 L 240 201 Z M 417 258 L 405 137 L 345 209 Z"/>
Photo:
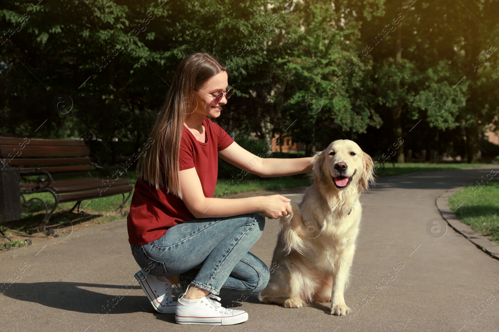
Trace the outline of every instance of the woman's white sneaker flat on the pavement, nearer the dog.
<path fill-rule="evenodd" d="M 218 296 L 210 294 L 201 299 L 186 300 L 184 295 L 180 297 L 175 311 L 178 324 L 233 325 L 248 321 L 246 311 L 226 309 L 213 300 L 220 301 Z"/>

